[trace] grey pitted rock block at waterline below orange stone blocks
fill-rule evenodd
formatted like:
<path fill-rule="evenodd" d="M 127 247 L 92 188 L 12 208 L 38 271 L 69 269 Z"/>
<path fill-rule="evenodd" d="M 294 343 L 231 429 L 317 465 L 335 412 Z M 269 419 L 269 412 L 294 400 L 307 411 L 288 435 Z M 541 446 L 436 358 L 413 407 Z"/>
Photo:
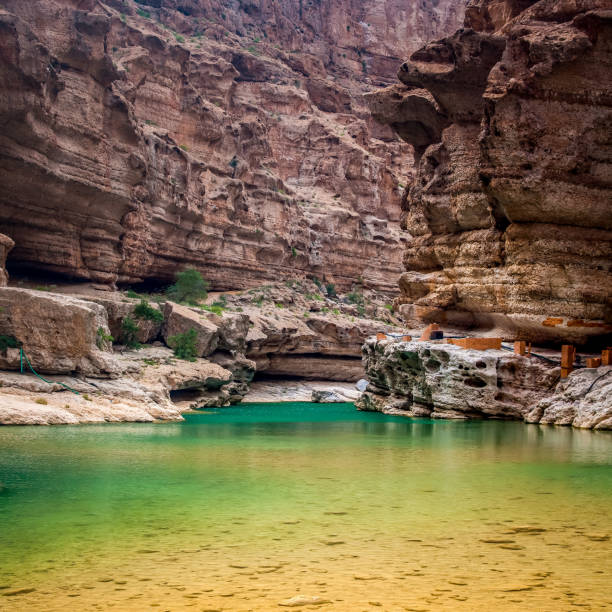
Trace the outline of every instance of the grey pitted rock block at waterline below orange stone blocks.
<path fill-rule="evenodd" d="M 535 358 L 436 342 L 371 338 L 363 356 L 370 385 L 357 407 L 411 416 L 522 420 L 559 377 Z"/>

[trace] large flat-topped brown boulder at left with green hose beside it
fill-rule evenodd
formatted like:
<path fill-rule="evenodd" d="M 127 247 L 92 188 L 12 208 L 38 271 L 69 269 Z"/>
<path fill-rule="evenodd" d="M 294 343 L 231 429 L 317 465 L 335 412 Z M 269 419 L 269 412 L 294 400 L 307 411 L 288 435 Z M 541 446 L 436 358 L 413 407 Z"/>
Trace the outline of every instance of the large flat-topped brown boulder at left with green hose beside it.
<path fill-rule="evenodd" d="M 34 369 L 117 375 L 111 356 L 99 348 L 109 334 L 106 311 L 99 304 L 45 291 L 0 288 L 0 334 L 17 339 Z M 0 354 L 0 368 L 19 369 L 19 351 Z"/>

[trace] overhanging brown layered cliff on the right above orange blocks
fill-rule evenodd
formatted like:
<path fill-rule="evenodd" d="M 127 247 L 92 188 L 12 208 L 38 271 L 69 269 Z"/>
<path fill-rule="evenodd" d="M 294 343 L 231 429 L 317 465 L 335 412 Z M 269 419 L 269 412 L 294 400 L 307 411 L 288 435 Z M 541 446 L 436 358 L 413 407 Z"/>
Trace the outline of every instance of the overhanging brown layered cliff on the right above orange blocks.
<path fill-rule="evenodd" d="M 414 325 L 583 343 L 612 331 L 612 13 L 474 0 L 369 96 L 413 145 L 398 299 Z"/>

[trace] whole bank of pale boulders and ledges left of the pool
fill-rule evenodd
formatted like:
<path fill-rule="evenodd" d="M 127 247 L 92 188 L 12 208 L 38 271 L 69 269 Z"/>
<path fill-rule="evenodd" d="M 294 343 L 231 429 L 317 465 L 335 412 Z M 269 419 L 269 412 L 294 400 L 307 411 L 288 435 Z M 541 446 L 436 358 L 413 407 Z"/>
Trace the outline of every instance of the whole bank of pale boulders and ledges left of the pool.
<path fill-rule="evenodd" d="M 332 298 L 315 283 L 290 284 L 211 296 L 199 307 L 148 302 L 149 318 L 137 307 L 160 296 L 0 288 L 0 424 L 176 420 L 183 410 L 242 401 L 256 373 L 317 380 L 317 388 L 362 377 L 365 337 L 395 329 L 385 303 L 369 292 Z M 140 350 L 122 344 L 126 321 Z M 177 359 L 164 343 L 190 330 L 193 361 Z M 295 385 L 310 398 L 314 387 Z"/>

